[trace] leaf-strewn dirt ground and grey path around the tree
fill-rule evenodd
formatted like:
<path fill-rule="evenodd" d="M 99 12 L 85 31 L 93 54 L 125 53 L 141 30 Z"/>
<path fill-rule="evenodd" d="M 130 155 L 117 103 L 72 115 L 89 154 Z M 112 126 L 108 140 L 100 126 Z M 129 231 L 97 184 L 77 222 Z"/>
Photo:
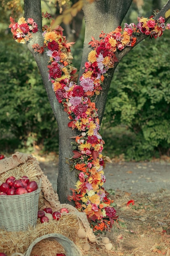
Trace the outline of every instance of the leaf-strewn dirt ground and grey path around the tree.
<path fill-rule="evenodd" d="M 57 191 L 57 156 L 37 159 Z M 124 162 L 120 157 L 112 162 L 105 168 L 105 189 L 115 190 L 119 221 L 107 233 L 114 245 L 107 255 L 170 256 L 170 160 Z M 127 206 L 129 200 L 134 204 Z"/>

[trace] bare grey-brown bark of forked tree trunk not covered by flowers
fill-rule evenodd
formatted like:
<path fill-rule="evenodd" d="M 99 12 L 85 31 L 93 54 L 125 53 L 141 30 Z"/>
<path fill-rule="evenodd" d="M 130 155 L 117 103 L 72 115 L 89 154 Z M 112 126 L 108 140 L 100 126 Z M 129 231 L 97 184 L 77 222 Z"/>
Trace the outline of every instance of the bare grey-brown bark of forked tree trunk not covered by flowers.
<path fill-rule="evenodd" d="M 101 31 L 109 33 L 118 26 L 121 25 L 124 16 L 126 15 L 132 0 L 96 0 L 91 4 L 85 0 L 83 5 L 83 12 L 85 17 L 85 40 L 83 48 L 83 56 L 81 61 L 80 72 L 78 74 L 78 84 L 80 82 L 81 75 L 83 74 L 82 67 L 87 61 L 87 56 L 91 51 L 89 42 L 92 36 L 98 40 Z M 25 18 L 33 18 L 37 23 L 38 31 L 33 34 L 31 43 L 28 43 L 28 49 L 32 52 L 35 61 L 39 67 L 44 86 L 46 88 L 50 105 L 54 112 L 54 116 L 57 120 L 59 128 L 59 176 L 58 176 L 58 194 L 61 202 L 68 202 L 68 195 L 71 193 L 70 188 L 74 187 L 76 183 L 76 175 L 74 172 L 70 172 L 70 166 L 66 163 L 66 159 L 72 157 L 72 137 L 78 135 L 77 131 L 71 130 L 68 127 L 68 114 L 63 111 L 63 106 L 56 100 L 54 91 L 52 90 L 51 82 L 48 80 L 48 56 L 43 54 L 37 54 L 33 51 L 32 45 L 39 44 L 44 45 L 44 39 L 42 36 L 42 19 L 41 19 L 41 1 L 40 0 L 25 0 L 24 1 Z M 165 18 L 165 21 L 170 17 L 170 0 L 167 4 L 156 14 L 155 19 L 159 17 Z M 137 36 L 135 45 L 140 43 L 148 35 L 140 34 Z M 117 62 L 115 62 L 113 68 L 108 70 L 108 76 L 105 78 L 104 85 L 102 86 L 102 92 L 97 95 L 95 99 L 96 107 L 98 108 L 98 118 L 100 124 L 105 111 L 105 104 L 107 101 L 107 94 L 111 79 L 113 77 L 116 66 L 121 59 L 133 49 L 132 47 L 125 47 L 122 51 L 116 52 Z"/>

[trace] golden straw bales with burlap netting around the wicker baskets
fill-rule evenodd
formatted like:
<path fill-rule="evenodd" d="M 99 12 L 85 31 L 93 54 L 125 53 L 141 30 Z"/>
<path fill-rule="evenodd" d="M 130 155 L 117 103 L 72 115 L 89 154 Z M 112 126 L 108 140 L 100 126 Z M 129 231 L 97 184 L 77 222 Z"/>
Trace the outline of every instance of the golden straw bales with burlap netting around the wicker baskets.
<path fill-rule="evenodd" d="M 66 207 L 69 209 L 69 213 L 63 213 L 58 221 L 51 220 L 49 222 L 40 223 L 40 220 L 37 219 L 37 226 L 35 228 L 28 227 L 27 231 L 8 232 L 0 229 L 0 252 L 4 252 L 7 256 L 11 256 L 15 253 L 25 254 L 29 245 L 31 245 L 36 238 L 46 234 L 56 233 L 72 240 L 83 255 L 88 255 L 89 252 L 90 256 L 107 256 L 114 253 L 111 251 L 108 252 L 102 245 L 96 245 L 96 243 L 89 242 L 89 235 L 91 235 L 91 233 L 89 230 L 89 223 L 87 218 L 85 218 L 86 216 L 82 213 L 78 213 L 78 211 L 69 204 L 60 204 L 58 195 L 54 193 L 52 184 L 49 182 L 47 176 L 41 171 L 39 162 L 37 162 L 34 157 L 30 157 L 29 159 L 26 159 L 25 163 L 0 173 L 0 183 L 5 182 L 9 176 L 14 176 L 17 179 L 20 179 L 24 175 L 36 182 L 39 182 L 40 178 L 42 180 L 41 192 L 39 195 L 39 209 L 51 207 L 53 211 L 59 211 L 61 208 Z M 86 231 L 89 231 L 85 238 L 78 238 L 77 231 L 79 228 L 85 228 Z M 83 245 L 87 242 L 90 244 L 90 251 L 83 252 Z M 45 245 L 46 243 L 50 243 L 50 246 Z M 46 250 L 44 249 L 45 247 Z M 55 248 L 52 249 L 53 252 L 49 251 L 49 248 L 53 247 Z M 64 248 L 59 243 L 56 243 L 56 241 L 54 243 L 54 241 L 51 240 L 47 240 L 47 242 L 46 240 L 43 240 L 34 246 L 31 256 L 55 256 L 56 253 L 64 252 Z"/>

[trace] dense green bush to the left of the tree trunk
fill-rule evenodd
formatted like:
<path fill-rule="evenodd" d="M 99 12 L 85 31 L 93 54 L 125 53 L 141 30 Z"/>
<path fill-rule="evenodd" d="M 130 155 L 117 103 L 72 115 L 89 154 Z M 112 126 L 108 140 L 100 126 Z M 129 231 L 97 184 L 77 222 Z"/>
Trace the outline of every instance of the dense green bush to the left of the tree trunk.
<path fill-rule="evenodd" d="M 7 38 L 0 42 L 0 56 L 0 150 L 9 150 L 3 141 L 11 137 L 11 150 L 48 150 L 52 143 L 58 151 L 57 122 L 31 53 Z"/>

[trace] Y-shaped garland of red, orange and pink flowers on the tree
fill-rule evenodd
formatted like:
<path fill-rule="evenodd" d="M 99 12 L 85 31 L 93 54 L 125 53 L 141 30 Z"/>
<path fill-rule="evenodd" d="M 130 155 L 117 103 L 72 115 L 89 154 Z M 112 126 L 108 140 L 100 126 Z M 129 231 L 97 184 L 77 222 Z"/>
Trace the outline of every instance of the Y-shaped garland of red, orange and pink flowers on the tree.
<path fill-rule="evenodd" d="M 9 27 L 18 43 L 30 40 L 31 32 L 37 31 L 37 25 L 31 18 L 26 22 L 22 17 L 17 23 L 12 18 L 10 20 L 12 24 Z M 125 23 L 123 29 L 118 27 L 109 34 L 102 31 L 99 40 L 92 37 L 89 42 L 92 51 L 88 54 L 79 85 L 76 84 L 76 68 L 71 65 L 72 43 L 67 42 L 60 26 L 54 30 L 43 28 L 44 47 L 49 56 L 49 81 L 57 100 L 68 113 L 68 126 L 79 132 L 78 136 L 72 138 L 74 155 L 69 159 L 70 168 L 76 171 L 78 181 L 69 200 L 74 200 L 76 208 L 86 213 L 94 233 L 111 228 L 114 220 L 118 219 L 114 208 L 116 204 L 109 198 L 114 191 L 103 188 L 106 180 L 105 162 L 110 162 L 110 159 L 102 155 L 104 141 L 99 134 L 95 94 L 100 94 L 107 71 L 118 61 L 115 55 L 117 50 L 133 47 L 141 33 L 157 38 L 165 29 L 170 29 L 170 24 L 165 25 L 162 17 L 158 20 L 153 16 L 142 17 L 138 21 L 137 25 Z M 33 49 L 43 52 L 37 44 L 33 45 Z"/>

